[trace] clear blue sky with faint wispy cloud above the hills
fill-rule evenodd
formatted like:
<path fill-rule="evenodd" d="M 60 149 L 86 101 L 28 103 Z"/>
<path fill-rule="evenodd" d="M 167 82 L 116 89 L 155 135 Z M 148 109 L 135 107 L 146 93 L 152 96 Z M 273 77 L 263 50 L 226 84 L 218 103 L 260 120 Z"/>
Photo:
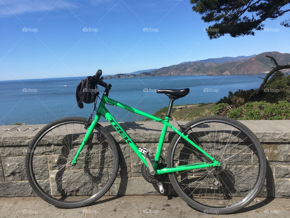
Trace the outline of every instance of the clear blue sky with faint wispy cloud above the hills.
<path fill-rule="evenodd" d="M 210 40 L 189 1 L 0 0 L 0 80 L 129 73 L 183 61 L 290 53 L 290 28 Z M 149 31 L 143 31 L 150 28 Z M 88 30 L 88 31 L 86 31 Z"/>

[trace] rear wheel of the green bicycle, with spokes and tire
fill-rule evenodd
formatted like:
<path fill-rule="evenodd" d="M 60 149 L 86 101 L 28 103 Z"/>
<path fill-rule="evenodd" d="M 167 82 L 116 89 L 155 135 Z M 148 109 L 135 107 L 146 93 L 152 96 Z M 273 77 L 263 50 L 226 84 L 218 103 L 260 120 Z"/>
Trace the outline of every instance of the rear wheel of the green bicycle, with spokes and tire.
<path fill-rule="evenodd" d="M 221 166 L 169 174 L 179 196 L 195 209 L 213 214 L 232 213 L 251 203 L 266 175 L 266 157 L 253 132 L 221 116 L 201 117 L 184 128 L 188 138 Z M 211 160 L 176 134 L 169 145 L 167 166 L 201 162 Z"/>

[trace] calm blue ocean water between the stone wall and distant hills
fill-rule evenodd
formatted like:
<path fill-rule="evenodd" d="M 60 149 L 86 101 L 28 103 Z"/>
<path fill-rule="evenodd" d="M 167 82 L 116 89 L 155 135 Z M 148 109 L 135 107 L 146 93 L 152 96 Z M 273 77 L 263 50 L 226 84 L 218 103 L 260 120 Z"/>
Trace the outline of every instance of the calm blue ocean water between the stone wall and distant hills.
<path fill-rule="evenodd" d="M 110 98 L 153 114 L 169 104 L 165 94 L 156 94 L 158 88 L 190 88 L 190 93 L 176 100 L 175 105 L 209 103 L 217 102 L 227 96 L 229 91 L 259 87 L 262 81 L 258 76 L 262 75 L 160 76 L 105 81 L 112 84 Z M 93 104 L 84 104 L 84 108 L 80 109 L 75 97 L 76 86 L 84 78 L 0 81 L 0 125 L 14 122 L 47 124 L 63 117 L 89 117 Z M 99 86 L 99 91 L 102 94 L 104 88 Z M 138 118 L 118 107 L 108 105 L 107 108 L 117 121 Z M 143 117 L 139 117 L 141 119 Z M 104 118 L 101 121 L 105 121 Z"/>

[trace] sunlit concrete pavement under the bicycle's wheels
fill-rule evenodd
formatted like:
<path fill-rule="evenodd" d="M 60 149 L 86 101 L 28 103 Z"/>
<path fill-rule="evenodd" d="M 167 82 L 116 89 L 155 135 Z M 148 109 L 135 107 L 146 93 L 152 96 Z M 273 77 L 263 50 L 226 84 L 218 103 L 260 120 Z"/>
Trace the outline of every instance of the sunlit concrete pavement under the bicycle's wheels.
<path fill-rule="evenodd" d="M 0 217 L 290 217 L 290 199 L 259 198 L 251 206 L 229 215 L 193 210 L 180 197 L 107 196 L 84 208 L 59 209 L 39 197 L 0 198 Z"/>

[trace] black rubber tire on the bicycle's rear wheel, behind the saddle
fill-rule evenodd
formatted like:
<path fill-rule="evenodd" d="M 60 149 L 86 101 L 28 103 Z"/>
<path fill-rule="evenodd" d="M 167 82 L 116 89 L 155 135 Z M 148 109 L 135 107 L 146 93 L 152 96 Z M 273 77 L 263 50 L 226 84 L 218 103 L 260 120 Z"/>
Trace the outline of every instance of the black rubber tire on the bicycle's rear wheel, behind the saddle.
<path fill-rule="evenodd" d="M 183 189 L 183 187 L 185 185 L 182 187 L 182 182 L 178 181 L 178 178 L 177 178 L 177 177 L 179 177 L 178 172 L 169 173 L 169 179 L 170 179 L 170 181 L 172 183 L 173 188 L 178 193 L 178 195 L 186 203 L 188 203 L 188 205 L 192 206 L 196 210 L 199 210 L 199 211 L 204 212 L 204 213 L 212 213 L 212 214 L 233 213 L 233 212 L 235 212 L 237 210 L 240 210 L 243 207 L 247 206 L 249 203 L 251 203 L 254 200 L 254 198 L 257 196 L 257 194 L 261 191 L 262 186 L 263 186 L 264 181 L 265 181 L 265 176 L 266 176 L 266 157 L 265 157 L 265 154 L 264 154 L 263 147 L 261 146 L 261 144 L 260 144 L 258 138 L 255 136 L 255 134 L 253 134 L 253 132 L 248 127 L 243 125 L 242 123 L 240 123 L 240 122 L 238 122 L 236 120 L 230 119 L 228 117 L 222 117 L 222 116 L 205 116 L 205 117 L 201 117 L 201 118 L 195 119 L 195 120 L 185 124 L 185 126 L 183 126 L 183 130 L 186 129 L 186 130 L 188 130 L 188 132 L 190 132 L 189 131 L 190 129 L 192 129 L 193 127 L 197 127 L 198 125 L 207 124 L 208 126 L 210 126 L 208 124 L 209 122 L 221 122 L 222 124 L 229 124 L 229 125 L 233 126 L 233 128 L 235 127 L 238 130 L 243 131 L 243 133 L 246 134 L 247 137 L 249 137 L 249 139 L 253 142 L 253 150 L 255 150 L 254 153 L 257 154 L 257 157 L 258 157 L 258 160 L 257 160 L 258 162 L 257 163 L 259 163 L 259 172 L 257 174 L 258 176 L 257 176 L 257 179 L 255 181 L 255 184 L 254 184 L 253 188 L 251 190 L 249 190 L 249 193 L 247 194 L 247 196 L 245 196 L 242 200 L 240 200 L 240 201 L 238 201 L 236 203 L 233 203 L 233 204 L 230 204 L 230 205 L 227 205 L 227 206 L 209 206 L 209 205 L 206 205 L 204 203 L 198 202 L 198 200 L 196 200 L 196 199 L 198 199 L 198 197 L 196 197 L 194 199 L 194 196 L 193 196 L 192 193 L 191 193 L 192 197 L 190 197 L 189 191 L 186 192 L 185 188 Z M 211 133 L 211 132 L 209 131 L 209 133 Z M 178 144 L 180 138 L 181 137 L 178 134 L 176 134 L 173 137 L 173 139 L 172 139 L 172 141 L 171 141 L 171 143 L 169 145 L 168 156 L 167 156 L 167 159 L 168 159 L 167 160 L 167 167 L 174 167 L 174 157 L 175 157 L 174 152 L 175 152 L 175 150 L 177 148 L 177 144 Z M 221 152 L 219 152 L 219 153 L 221 153 Z M 230 157 L 233 157 L 233 156 L 230 156 Z M 218 161 L 220 161 L 220 160 L 218 160 Z M 252 161 L 253 161 L 253 159 L 252 159 Z M 210 172 L 211 171 L 209 171 L 209 173 Z M 198 173 L 196 173 L 196 174 L 198 174 Z M 209 177 L 210 176 L 208 176 L 208 178 Z M 198 179 L 195 178 L 194 180 L 197 181 Z M 238 181 L 238 180 L 235 180 L 235 181 Z M 191 185 L 193 185 L 193 184 L 191 184 Z M 221 183 L 221 187 L 222 187 L 222 185 L 223 184 Z M 206 186 L 206 190 L 208 190 L 208 184 L 205 185 L 205 186 Z M 187 189 L 189 189 L 189 188 L 187 187 Z M 195 187 L 195 190 L 196 189 L 197 189 L 197 187 Z M 202 190 L 201 187 L 199 189 Z M 199 192 L 199 194 L 200 193 L 201 193 L 201 191 Z M 226 196 L 226 194 L 225 194 L 225 196 Z M 210 196 L 208 198 L 209 199 L 211 199 L 211 198 L 213 199 L 214 197 Z M 230 199 L 229 196 L 226 196 L 226 198 Z M 204 202 L 206 202 L 206 201 L 204 201 Z"/>

